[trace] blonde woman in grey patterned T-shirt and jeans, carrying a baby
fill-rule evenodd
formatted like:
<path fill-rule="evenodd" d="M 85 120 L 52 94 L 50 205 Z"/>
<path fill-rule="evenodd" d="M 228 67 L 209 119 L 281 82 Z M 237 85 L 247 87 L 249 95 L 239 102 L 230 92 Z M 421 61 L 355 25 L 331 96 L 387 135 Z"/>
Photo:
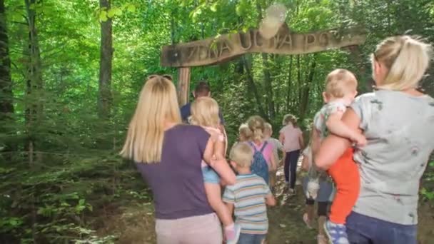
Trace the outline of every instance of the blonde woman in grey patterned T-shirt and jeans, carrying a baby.
<path fill-rule="evenodd" d="M 371 60 L 376 91 L 343 114 L 368 141 L 354 152 L 360 193 L 346 221 L 350 243 L 417 243 L 419 181 L 434 149 L 434 99 L 417 88 L 431 51 L 410 36 L 382 41 Z M 328 136 L 316 165 L 328 169 L 350 146 L 348 138 Z"/>

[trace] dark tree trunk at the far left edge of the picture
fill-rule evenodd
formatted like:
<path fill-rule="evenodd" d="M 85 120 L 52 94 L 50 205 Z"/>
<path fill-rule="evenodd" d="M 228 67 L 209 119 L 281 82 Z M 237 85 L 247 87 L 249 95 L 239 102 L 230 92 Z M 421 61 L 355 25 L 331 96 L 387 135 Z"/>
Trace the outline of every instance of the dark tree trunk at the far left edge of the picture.
<path fill-rule="evenodd" d="M 11 59 L 9 58 L 9 40 L 6 28 L 6 9 L 4 0 L 0 0 L 0 133 L 7 134 L 13 123 L 14 95 L 12 93 Z M 4 151 L 14 151 L 14 145 L 6 139 Z M 6 161 L 11 160 L 11 153 L 6 154 Z"/>

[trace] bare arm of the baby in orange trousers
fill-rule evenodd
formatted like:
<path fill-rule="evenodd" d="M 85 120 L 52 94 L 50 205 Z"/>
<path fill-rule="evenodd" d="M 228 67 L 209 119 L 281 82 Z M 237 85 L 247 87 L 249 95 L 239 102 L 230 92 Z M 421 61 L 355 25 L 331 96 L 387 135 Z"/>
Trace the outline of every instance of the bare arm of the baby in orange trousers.
<path fill-rule="evenodd" d="M 365 136 L 363 136 L 362 133 L 352 130 L 346 126 L 342 121 L 342 116 L 343 113 L 340 111 L 332 113 L 330 116 L 328 116 L 327 121 L 325 122 L 328 131 L 335 134 L 336 136 L 348 138 L 351 141 L 357 143 L 358 146 L 364 146 L 366 144 Z"/>

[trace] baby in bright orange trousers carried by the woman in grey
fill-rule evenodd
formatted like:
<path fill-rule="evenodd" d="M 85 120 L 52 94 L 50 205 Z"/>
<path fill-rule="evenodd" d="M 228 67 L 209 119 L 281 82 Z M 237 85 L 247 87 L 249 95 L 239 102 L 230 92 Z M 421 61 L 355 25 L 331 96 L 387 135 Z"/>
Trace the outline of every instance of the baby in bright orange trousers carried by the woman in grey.
<path fill-rule="evenodd" d="M 358 146 L 365 145 L 365 136 L 348 128 L 341 121 L 343 113 L 354 101 L 356 95 L 357 79 L 353 73 L 339 68 L 328 74 L 323 93 L 326 104 L 313 121 L 315 130 L 313 130 L 312 147 L 314 153 L 319 148 L 318 143 L 321 143 L 329 133 L 348 138 Z M 315 143 L 316 141 L 318 143 Z M 313 160 L 315 161 L 315 158 Z M 343 156 L 328 169 L 327 173 L 333 178 L 337 192 L 331 205 L 329 220 L 325 223 L 325 232 L 333 244 L 348 243 L 345 220 L 353 209 L 360 190 L 360 177 L 358 166 L 353 161 L 353 148 L 348 148 Z M 315 182 L 310 182 L 308 185 L 308 190 L 311 190 L 310 194 L 313 196 L 316 195 L 315 190 L 318 190 L 318 187 L 314 186 Z"/>

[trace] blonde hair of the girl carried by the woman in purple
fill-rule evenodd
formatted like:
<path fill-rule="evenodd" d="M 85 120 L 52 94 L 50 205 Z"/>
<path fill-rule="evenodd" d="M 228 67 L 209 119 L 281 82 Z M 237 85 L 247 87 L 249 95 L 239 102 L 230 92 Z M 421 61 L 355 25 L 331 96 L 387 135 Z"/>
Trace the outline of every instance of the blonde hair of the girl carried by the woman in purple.
<path fill-rule="evenodd" d="M 213 98 L 202 96 L 191 104 L 191 123 L 198 126 L 218 128 L 218 103 Z"/>

